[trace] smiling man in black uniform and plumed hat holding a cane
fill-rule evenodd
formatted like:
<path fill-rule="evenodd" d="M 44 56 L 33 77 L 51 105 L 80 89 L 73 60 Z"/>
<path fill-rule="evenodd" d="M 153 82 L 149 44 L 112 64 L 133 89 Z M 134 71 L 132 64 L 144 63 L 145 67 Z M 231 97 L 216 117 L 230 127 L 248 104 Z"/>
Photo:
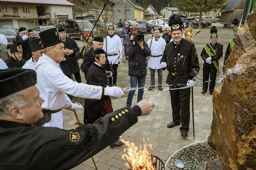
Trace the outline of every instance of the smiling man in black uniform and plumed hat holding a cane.
<path fill-rule="evenodd" d="M 172 128 L 181 123 L 181 136 L 187 137 L 190 120 L 190 88 L 185 86 L 194 84 L 192 79 L 198 74 L 200 67 L 194 43 L 182 38 L 182 19 L 174 14 L 170 17 L 168 25 L 171 27 L 174 41 L 165 46 L 161 59 L 163 70 L 167 66 L 169 71 L 166 83 L 174 89 L 170 90 L 173 121 L 167 127 Z M 181 87 L 185 88 L 179 89 Z"/>

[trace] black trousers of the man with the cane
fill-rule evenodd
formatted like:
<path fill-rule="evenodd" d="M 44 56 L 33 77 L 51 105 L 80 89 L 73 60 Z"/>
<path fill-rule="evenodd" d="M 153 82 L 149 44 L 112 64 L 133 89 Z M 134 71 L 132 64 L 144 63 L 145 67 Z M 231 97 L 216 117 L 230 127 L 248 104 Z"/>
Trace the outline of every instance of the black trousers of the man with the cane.
<path fill-rule="evenodd" d="M 190 88 L 170 90 L 172 119 L 180 124 L 180 131 L 189 131 L 190 121 Z"/>

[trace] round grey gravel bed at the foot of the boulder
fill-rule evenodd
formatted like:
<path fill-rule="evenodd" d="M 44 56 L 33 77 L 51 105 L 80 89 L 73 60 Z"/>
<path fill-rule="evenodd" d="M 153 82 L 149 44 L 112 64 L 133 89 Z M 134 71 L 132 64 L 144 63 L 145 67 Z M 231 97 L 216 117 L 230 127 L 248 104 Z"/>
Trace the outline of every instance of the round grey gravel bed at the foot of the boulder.
<path fill-rule="evenodd" d="M 212 149 L 207 142 L 198 143 L 180 150 L 171 159 L 166 170 L 179 170 L 174 165 L 176 160 L 185 164 L 184 170 L 207 170 L 210 161 L 218 158 L 216 150 Z"/>

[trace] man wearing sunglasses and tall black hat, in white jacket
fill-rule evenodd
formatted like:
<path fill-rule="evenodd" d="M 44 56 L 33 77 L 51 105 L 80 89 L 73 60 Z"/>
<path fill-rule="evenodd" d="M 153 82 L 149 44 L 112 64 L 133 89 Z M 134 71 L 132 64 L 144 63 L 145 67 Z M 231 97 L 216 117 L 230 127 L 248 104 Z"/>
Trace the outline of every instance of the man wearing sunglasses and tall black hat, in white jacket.
<path fill-rule="evenodd" d="M 43 45 L 40 38 L 31 39 L 30 46 L 32 50 L 32 57 L 24 64 L 22 68 L 34 70 L 34 67 L 39 59 L 43 55 Z"/>

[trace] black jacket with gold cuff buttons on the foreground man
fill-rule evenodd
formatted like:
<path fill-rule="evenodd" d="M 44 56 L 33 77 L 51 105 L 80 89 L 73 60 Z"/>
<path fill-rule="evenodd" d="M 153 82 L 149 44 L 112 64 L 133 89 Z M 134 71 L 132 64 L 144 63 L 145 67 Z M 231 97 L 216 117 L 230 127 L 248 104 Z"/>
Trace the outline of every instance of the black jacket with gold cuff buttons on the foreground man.
<path fill-rule="evenodd" d="M 137 121 L 129 107 L 109 113 L 92 125 L 70 130 L 0 120 L 0 169 L 73 168 L 114 143 Z"/>

